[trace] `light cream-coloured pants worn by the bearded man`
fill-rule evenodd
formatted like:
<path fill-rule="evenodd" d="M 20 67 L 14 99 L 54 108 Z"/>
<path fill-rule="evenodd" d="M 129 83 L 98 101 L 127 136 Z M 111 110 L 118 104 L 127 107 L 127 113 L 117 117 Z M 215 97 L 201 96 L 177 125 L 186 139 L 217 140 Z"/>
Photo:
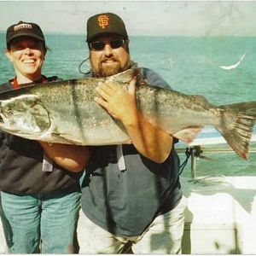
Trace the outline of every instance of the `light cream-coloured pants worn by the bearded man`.
<path fill-rule="evenodd" d="M 183 196 L 177 207 L 155 218 L 143 234 L 127 237 L 116 236 L 103 230 L 80 211 L 79 253 L 131 253 L 132 250 L 135 254 L 179 254 L 186 207 L 187 198 Z"/>

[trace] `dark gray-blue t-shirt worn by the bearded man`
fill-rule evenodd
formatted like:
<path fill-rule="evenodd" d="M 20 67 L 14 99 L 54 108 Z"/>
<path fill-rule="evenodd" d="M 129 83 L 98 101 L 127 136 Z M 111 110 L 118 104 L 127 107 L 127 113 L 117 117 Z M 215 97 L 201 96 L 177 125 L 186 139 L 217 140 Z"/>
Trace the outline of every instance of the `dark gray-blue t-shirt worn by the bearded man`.
<path fill-rule="evenodd" d="M 149 84 L 168 88 L 157 73 L 143 68 Z M 170 88 L 170 87 L 169 87 Z M 120 169 L 122 149 L 125 170 Z M 131 145 L 97 146 L 82 184 L 84 214 L 104 230 L 119 236 L 137 236 L 182 197 L 179 158 L 174 148 L 164 163 L 148 160 Z"/>

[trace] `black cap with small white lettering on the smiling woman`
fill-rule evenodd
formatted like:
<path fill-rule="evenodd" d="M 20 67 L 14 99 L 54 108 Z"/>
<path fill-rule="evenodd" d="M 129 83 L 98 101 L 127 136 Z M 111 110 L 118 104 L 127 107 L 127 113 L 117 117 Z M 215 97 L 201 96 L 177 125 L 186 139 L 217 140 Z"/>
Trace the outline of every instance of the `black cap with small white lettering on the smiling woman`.
<path fill-rule="evenodd" d="M 6 44 L 19 37 L 36 38 L 45 44 L 44 34 L 36 23 L 20 21 L 17 24 L 9 26 L 6 32 Z"/>

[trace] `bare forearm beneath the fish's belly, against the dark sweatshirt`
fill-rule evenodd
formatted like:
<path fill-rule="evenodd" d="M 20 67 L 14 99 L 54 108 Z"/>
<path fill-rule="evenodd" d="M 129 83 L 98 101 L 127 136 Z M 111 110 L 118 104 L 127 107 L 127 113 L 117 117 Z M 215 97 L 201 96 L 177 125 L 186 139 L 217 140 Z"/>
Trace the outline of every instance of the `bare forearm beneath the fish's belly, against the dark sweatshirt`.
<path fill-rule="evenodd" d="M 90 158 L 89 149 L 84 146 L 39 143 L 51 160 L 70 172 L 82 172 Z"/>

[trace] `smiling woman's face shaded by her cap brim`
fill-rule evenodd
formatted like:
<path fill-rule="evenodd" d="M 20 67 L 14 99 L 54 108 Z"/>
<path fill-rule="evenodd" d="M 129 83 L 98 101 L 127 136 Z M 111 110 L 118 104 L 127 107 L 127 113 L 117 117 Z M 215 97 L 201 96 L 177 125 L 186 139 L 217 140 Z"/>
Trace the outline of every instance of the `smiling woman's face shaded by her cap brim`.
<path fill-rule="evenodd" d="M 44 46 L 41 41 L 28 37 L 16 38 L 6 50 L 6 55 L 14 64 L 17 77 L 40 79 L 44 63 Z"/>

